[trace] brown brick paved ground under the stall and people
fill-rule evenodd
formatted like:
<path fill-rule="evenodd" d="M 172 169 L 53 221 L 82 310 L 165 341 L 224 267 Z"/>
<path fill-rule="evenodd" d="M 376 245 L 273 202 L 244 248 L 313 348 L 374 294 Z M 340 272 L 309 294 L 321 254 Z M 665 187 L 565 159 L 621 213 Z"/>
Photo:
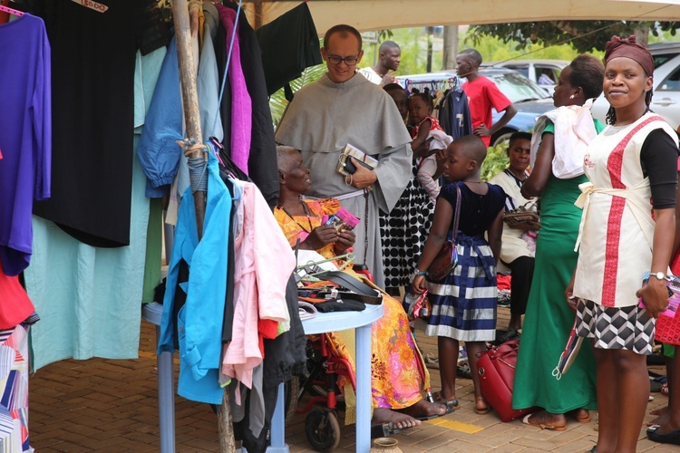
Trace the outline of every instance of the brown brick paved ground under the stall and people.
<path fill-rule="evenodd" d="M 499 310 L 499 325 L 508 322 L 507 309 Z M 112 361 L 59 361 L 37 371 L 30 379 L 29 426 L 32 445 L 38 452 L 146 452 L 159 450 L 157 370 L 154 328 L 142 322 L 140 358 Z M 423 352 L 436 352 L 432 339 L 419 335 Z M 655 371 L 661 371 L 655 369 Z M 435 390 L 439 373 L 432 372 Z M 177 376 L 177 372 L 175 373 Z M 502 423 L 491 411 L 474 413 L 472 385 L 458 381 L 461 409 L 422 428 L 395 434 L 405 453 L 454 451 L 555 451 L 578 452 L 591 448 L 597 432 L 593 421 L 569 422 L 562 432 L 522 425 L 519 420 Z M 665 405 L 667 399 L 654 393 L 649 409 Z M 219 451 L 217 419 L 207 405 L 176 397 L 177 450 L 180 452 Z M 651 419 L 647 416 L 646 419 Z M 470 433 L 479 429 L 478 432 Z M 342 429 L 336 451 L 354 451 L 354 427 Z M 287 427 L 287 443 L 292 452 L 309 451 L 304 433 L 304 416 L 296 416 Z M 638 451 L 680 451 L 662 446 L 640 429 Z"/>

